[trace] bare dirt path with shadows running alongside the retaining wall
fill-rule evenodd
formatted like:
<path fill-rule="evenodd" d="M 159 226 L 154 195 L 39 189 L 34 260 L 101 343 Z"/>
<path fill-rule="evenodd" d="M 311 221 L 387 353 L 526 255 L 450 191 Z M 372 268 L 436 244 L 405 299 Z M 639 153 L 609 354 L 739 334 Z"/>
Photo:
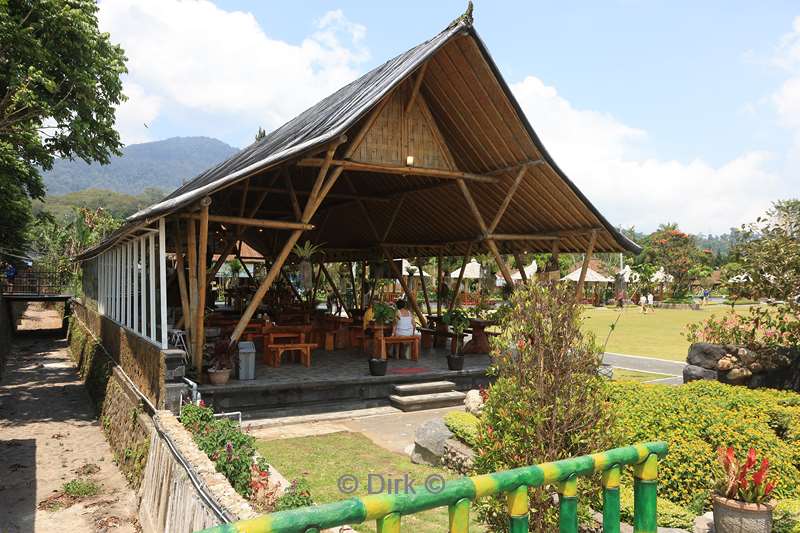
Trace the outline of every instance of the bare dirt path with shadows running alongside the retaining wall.
<path fill-rule="evenodd" d="M 31 305 L 22 329 L 58 328 L 56 310 Z M 24 332 L 0 383 L 0 532 L 138 531 L 136 495 L 113 461 L 63 338 Z M 95 496 L 70 498 L 85 479 Z"/>

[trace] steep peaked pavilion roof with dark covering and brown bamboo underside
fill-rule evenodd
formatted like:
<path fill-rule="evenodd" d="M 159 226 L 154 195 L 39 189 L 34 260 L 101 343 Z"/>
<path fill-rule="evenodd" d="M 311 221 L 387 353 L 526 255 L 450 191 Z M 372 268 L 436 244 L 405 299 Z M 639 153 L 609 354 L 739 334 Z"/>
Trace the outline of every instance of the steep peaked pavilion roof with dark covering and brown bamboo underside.
<path fill-rule="evenodd" d="M 424 76 L 415 85 L 418 73 Z M 394 104 L 404 102 L 412 92 L 416 94 L 417 87 L 415 107 L 406 110 L 406 116 L 403 106 L 398 111 Z M 472 27 L 471 18 L 462 17 L 432 39 L 373 69 L 261 141 L 203 172 L 164 200 L 134 214 L 123 228 L 80 258 L 95 255 L 159 217 L 193 210 L 206 196 L 213 200 L 212 214 L 240 215 L 239 191 L 248 178 L 251 191 L 261 187 L 275 193 L 270 192 L 255 218 L 295 220 L 284 178 L 291 181 L 300 203 L 304 203 L 307 196 L 303 192 L 311 190 L 319 171 L 313 158 L 319 161 L 321 152 L 343 135 L 352 140 L 367 114 L 379 104 L 385 108 L 373 129 L 391 128 L 393 120 L 400 120 L 405 124 L 405 148 L 409 142 L 439 142 L 425 147 L 430 152 L 429 163 L 419 166 L 490 178 L 468 182 L 486 221 L 492 221 L 502 209 L 518 172 L 525 169 L 494 233 L 539 237 L 498 239 L 501 253 L 549 251 L 556 239 L 562 252 L 582 252 L 590 241 L 590 230 L 597 234 L 596 251 L 640 251 L 559 169 Z M 380 145 L 379 149 L 386 152 L 381 157 L 389 154 L 397 160 L 393 163 L 405 164 L 408 151 L 395 153 L 393 146 L 381 145 L 380 131 L 371 135 L 372 144 L 367 146 L 365 141 L 361 153 L 353 154 L 352 160 L 369 160 L 375 146 Z M 345 146 L 339 147 L 335 159 L 342 157 Z M 485 235 L 481 235 L 463 191 L 456 185 L 456 180 L 426 175 L 417 168 L 409 168 L 407 174 L 345 170 L 311 220 L 316 229 L 306 232 L 302 240 L 323 243 L 326 257 L 332 261 L 380 257 L 379 244 L 391 246 L 395 256 L 458 255 L 468 249 L 485 252 Z M 253 201 L 252 196 L 248 203 Z M 402 208 L 395 214 L 401 198 Z M 390 231 L 379 235 L 385 228 Z M 250 229 L 243 238 L 269 257 L 280 248 L 285 234 Z M 216 238 L 210 240 L 212 248 L 217 243 Z"/>

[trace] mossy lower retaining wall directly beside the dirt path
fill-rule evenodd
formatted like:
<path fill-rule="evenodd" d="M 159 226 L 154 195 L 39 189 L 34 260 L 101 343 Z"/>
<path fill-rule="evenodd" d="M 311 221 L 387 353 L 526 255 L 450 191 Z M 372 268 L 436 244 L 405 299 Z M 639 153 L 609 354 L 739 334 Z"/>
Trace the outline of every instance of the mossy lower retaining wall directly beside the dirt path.
<path fill-rule="evenodd" d="M 152 423 L 122 369 L 79 319 L 70 320 L 70 356 L 94 403 L 114 458 L 134 488 L 141 484 Z"/>

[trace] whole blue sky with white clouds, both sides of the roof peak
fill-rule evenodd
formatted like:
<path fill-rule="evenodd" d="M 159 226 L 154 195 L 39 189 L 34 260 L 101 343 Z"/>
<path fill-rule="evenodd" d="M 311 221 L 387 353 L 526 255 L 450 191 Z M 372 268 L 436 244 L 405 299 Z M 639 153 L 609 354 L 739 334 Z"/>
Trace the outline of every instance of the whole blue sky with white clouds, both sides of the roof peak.
<path fill-rule="evenodd" d="M 101 26 L 130 57 L 120 130 L 244 146 L 465 5 L 101 1 Z M 790 2 L 477 1 L 475 26 L 607 218 L 721 232 L 800 193 L 798 15 Z"/>

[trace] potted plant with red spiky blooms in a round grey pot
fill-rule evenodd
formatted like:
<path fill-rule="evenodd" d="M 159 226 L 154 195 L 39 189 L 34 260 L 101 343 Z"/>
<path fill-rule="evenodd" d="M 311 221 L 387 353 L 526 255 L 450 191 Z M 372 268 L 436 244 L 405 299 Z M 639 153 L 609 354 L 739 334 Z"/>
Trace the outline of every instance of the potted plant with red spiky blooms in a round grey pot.
<path fill-rule="evenodd" d="M 732 447 L 718 450 L 722 475 L 713 497 L 714 528 L 717 533 L 750 533 L 772 531 L 770 498 L 775 483 L 767 479 L 769 461 L 759 463 L 753 448 L 742 463 Z"/>

